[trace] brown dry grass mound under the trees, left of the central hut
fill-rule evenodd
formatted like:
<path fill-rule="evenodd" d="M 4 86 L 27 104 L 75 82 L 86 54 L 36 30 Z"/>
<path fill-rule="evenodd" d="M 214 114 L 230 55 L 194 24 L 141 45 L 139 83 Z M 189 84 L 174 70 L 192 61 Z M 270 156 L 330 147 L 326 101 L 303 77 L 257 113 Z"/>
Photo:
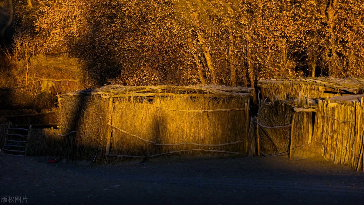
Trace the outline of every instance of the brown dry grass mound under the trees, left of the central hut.
<path fill-rule="evenodd" d="M 27 73 L 28 65 L 28 73 Z M 36 55 L 29 61 L 21 55 L 3 50 L 0 56 L 0 109 L 50 109 L 55 107 L 56 93 L 83 88 L 82 74 L 76 58 L 66 55 Z M 26 76 L 28 84 L 26 84 Z M 42 92 L 41 79 L 70 79 L 53 81 L 51 93 Z"/>

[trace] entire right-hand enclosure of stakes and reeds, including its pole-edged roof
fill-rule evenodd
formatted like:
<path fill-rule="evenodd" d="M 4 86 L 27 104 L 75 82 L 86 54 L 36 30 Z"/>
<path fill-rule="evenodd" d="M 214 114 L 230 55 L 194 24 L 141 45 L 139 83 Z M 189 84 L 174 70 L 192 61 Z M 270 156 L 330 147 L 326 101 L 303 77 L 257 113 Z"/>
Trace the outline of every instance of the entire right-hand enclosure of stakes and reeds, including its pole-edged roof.
<path fill-rule="evenodd" d="M 257 126 L 262 154 L 288 150 L 290 156 L 323 156 L 363 170 L 363 82 L 357 78 L 259 81 L 264 98 L 257 121 L 262 125 Z M 290 108 L 284 106 L 287 102 Z M 278 122 L 290 126 L 274 128 Z"/>

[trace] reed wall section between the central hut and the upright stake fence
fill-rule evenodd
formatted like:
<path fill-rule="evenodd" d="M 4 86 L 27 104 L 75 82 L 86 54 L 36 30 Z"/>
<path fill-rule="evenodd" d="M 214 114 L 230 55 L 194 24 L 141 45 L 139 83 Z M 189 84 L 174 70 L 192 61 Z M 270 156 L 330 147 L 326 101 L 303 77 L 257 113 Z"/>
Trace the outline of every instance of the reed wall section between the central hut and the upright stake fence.
<path fill-rule="evenodd" d="M 312 136 L 312 113 L 295 112 L 292 107 L 293 101 L 261 103 L 256 122 L 261 154 L 285 154 L 290 148 L 297 152 L 297 148 L 309 143 Z"/>

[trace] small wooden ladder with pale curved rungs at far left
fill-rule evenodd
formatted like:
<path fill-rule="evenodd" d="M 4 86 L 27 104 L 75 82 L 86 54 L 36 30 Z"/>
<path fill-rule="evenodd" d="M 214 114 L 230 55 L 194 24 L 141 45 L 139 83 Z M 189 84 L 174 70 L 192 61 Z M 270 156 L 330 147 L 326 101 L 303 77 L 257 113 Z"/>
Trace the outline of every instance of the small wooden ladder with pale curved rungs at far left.
<path fill-rule="evenodd" d="M 9 122 L 8 131 L 5 137 L 5 143 L 3 145 L 3 152 L 14 155 L 25 155 L 27 152 L 27 141 L 29 139 L 29 131 L 32 129 L 32 125 L 29 125 L 28 129 L 12 127 L 12 123 Z"/>

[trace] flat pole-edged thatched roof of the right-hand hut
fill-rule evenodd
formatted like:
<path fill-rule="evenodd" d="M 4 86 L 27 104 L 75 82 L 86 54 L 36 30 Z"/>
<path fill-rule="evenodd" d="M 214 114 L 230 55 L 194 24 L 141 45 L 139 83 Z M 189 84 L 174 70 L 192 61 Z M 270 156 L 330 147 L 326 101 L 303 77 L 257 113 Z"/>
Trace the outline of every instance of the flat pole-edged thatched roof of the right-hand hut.
<path fill-rule="evenodd" d="M 268 84 L 316 85 L 328 88 L 328 91 L 330 91 L 330 89 L 344 90 L 345 92 L 353 94 L 362 94 L 364 90 L 363 78 L 271 78 L 270 80 L 258 81 L 258 86 Z"/>

